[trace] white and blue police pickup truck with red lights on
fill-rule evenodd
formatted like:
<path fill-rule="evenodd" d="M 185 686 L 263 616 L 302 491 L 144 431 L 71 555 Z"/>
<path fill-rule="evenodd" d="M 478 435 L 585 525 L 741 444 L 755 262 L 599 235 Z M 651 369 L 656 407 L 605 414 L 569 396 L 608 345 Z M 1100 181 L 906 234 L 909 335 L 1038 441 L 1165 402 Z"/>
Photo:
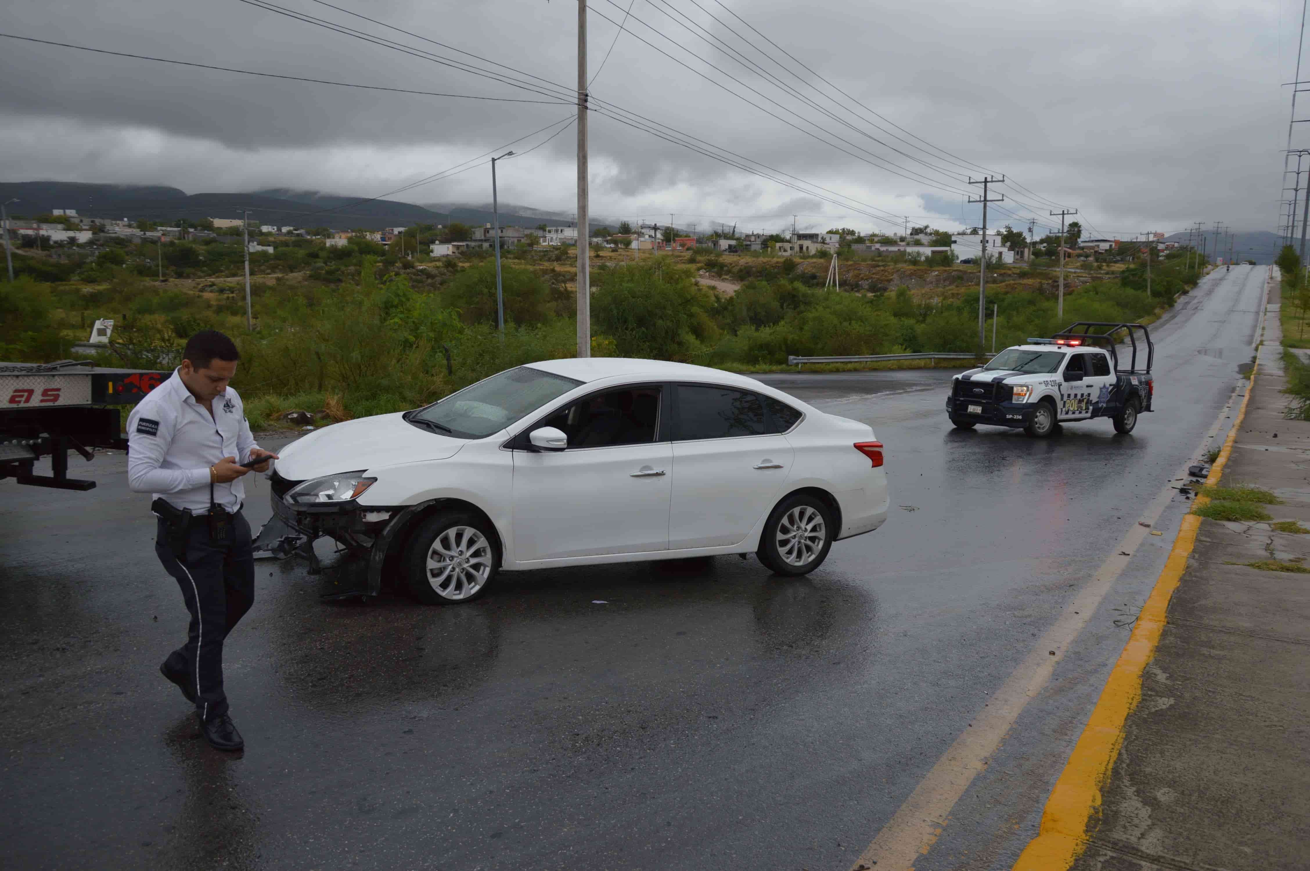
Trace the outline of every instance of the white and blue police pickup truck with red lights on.
<path fill-rule="evenodd" d="M 1141 324 L 1078 321 L 955 376 L 946 413 L 960 430 L 1022 427 L 1039 439 L 1057 423 L 1091 418 L 1110 418 L 1116 432 L 1132 432 L 1137 415 L 1154 410 L 1154 356 Z"/>

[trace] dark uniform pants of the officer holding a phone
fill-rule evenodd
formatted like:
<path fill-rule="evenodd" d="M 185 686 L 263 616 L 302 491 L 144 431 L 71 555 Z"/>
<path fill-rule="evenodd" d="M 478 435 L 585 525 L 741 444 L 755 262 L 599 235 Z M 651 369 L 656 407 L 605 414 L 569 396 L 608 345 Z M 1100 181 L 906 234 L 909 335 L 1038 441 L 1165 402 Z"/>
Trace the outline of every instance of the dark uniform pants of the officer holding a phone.
<path fill-rule="evenodd" d="M 228 540 L 215 542 L 210 541 L 207 520 L 198 517 L 187 532 L 186 553 L 177 559 L 160 520 L 155 553 L 182 588 L 182 600 L 191 612 L 186 644 L 169 655 L 165 668 L 174 675 L 185 673 L 202 719 L 221 716 L 228 711 L 228 697 L 223 693 L 223 640 L 254 604 L 250 524 L 237 512 Z"/>

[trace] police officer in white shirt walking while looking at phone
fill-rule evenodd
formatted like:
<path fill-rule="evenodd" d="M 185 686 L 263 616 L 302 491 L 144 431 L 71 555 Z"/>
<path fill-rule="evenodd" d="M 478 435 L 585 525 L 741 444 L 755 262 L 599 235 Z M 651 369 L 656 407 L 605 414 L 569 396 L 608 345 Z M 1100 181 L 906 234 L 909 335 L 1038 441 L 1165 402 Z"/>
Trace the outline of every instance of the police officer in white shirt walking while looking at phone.
<path fill-rule="evenodd" d="M 160 672 L 195 705 L 200 731 L 220 751 L 245 743 L 223 692 L 223 640 L 254 602 L 250 524 L 241 515 L 253 460 L 257 472 L 278 454 L 250 435 L 241 397 L 228 386 L 237 347 L 215 330 L 193 335 L 182 365 L 127 418 L 127 481 L 155 495 L 155 553 L 182 589 L 191 612 L 186 643 Z"/>

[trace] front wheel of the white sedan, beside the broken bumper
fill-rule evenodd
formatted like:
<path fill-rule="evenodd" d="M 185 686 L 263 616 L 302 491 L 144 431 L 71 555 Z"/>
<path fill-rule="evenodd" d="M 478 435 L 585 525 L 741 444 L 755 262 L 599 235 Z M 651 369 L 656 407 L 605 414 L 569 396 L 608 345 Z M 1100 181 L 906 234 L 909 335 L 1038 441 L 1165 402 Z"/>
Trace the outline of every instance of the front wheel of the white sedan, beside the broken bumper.
<path fill-rule="evenodd" d="M 415 599 L 426 605 L 455 605 L 486 593 L 500 568 L 500 551 L 482 517 L 443 511 L 410 536 L 402 566 Z"/>

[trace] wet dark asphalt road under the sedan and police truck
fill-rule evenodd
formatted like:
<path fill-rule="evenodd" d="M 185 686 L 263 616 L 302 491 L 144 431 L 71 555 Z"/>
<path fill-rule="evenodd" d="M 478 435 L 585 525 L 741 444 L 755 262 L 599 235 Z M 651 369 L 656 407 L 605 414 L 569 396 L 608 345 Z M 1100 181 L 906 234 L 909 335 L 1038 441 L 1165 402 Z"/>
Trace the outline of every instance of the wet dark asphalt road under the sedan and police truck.
<path fill-rule="evenodd" d="M 0 864 L 845 868 L 1200 444 L 1264 276 L 1221 271 L 1153 329 L 1132 436 L 952 431 L 946 371 L 764 376 L 887 444 L 892 516 L 808 578 L 730 557 L 328 605 L 261 562 L 225 656 L 240 757 L 156 672 L 185 609 L 124 458 L 79 466 L 86 494 L 0 482 Z M 916 868 L 1009 867 L 1186 504 Z"/>

